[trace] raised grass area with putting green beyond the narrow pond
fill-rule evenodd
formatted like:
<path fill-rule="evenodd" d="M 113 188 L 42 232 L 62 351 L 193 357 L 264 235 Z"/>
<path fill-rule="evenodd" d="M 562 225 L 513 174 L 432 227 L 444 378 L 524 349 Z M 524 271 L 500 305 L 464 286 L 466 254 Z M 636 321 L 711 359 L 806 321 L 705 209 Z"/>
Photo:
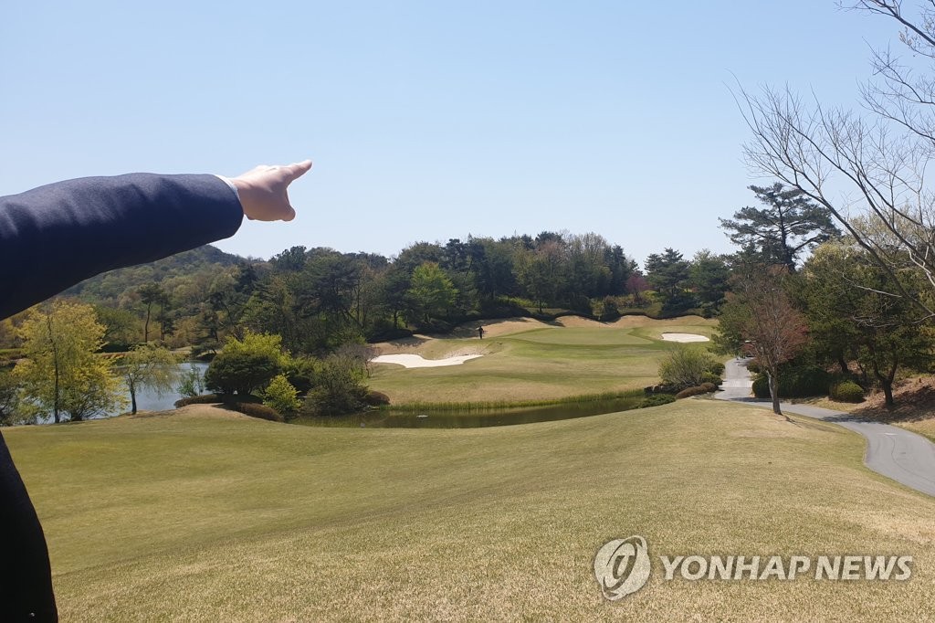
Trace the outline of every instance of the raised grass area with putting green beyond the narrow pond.
<path fill-rule="evenodd" d="M 484 340 L 477 339 L 476 325 L 454 333 L 470 337 L 417 337 L 381 344 L 380 350 L 429 359 L 484 356 L 448 368 L 376 364 L 368 383 L 393 404 L 523 402 L 638 389 L 658 383 L 659 360 L 677 346 L 662 341 L 664 332 L 710 336 L 716 322 L 698 316 L 627 316 L 609 324 L 575 317 L 554 325 L 511 320 L 484 324 Z"/>

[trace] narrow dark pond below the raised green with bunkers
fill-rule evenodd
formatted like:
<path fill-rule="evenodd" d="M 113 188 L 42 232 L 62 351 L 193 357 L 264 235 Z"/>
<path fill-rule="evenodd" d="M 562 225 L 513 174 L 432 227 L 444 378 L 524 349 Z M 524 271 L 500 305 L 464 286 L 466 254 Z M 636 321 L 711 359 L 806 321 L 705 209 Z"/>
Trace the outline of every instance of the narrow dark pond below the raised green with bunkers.
<path fill-rule="evenodd" d="M 642 397 L 569 402 L 545 407 L 514 407 L 473 411 L 403 411 L 378 409 L 353 415 L 300 417 L 294 424 L 311 427 L 478 428 L 553 422 L 635 409 Z"/>

